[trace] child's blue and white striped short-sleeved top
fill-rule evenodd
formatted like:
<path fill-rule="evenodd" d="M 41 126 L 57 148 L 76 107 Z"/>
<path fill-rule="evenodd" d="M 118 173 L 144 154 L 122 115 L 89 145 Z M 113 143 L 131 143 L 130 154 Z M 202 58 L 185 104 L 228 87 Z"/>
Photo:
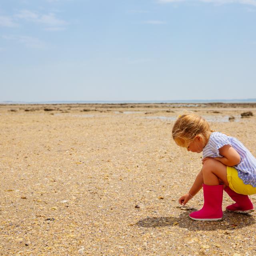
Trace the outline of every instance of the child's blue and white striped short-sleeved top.
<path fill-rule="evenodd" d="M 256 187 L 256 158 L 238 139 L 221 132 L 212 132 L 208 143 L 203 149 L 203 158 L 222 157 L 219 153 L 219 148 L 224 145 L 232 146 L 240 155 L 240 163 L 234 166 L 238 171 L 239 178 L 243 180 L 244 184 L 251 184 Z"/>

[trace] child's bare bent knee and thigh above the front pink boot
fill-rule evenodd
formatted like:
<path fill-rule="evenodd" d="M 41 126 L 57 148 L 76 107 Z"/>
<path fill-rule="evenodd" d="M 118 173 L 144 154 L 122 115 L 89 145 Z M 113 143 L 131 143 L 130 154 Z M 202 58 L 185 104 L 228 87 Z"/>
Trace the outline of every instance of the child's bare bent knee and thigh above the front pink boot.
<path fill-rule="evenodd" d="M 219 180 L 222 180 L 222 182 L 228 186 L 227 166 L 221 162 L 214 159 L 208 159 L 204 162 L 202 171 L 204 184 L 216 186 L 220 184 Z"/>

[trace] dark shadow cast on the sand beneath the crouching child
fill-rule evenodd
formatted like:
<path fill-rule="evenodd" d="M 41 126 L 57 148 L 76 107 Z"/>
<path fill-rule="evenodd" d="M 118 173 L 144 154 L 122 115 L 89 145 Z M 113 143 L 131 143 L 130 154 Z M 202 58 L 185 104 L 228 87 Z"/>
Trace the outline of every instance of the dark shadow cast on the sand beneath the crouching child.
<path fill-rule="evenodd" d="M 194 209 L 193 209 L 194 211 Z M 191 212 L 191 211 L 190 211 Z M 190 212 L 183 212 L 179 217 L 153 217 L 139 220 L 136 225 L 145 228 L 178 226 L 188 230 L 237 230 L 256 223 L 251 214 L 238 214 L 223 212 L 223 218 L 219 221 L 196 221 L 189 218 Z"/>

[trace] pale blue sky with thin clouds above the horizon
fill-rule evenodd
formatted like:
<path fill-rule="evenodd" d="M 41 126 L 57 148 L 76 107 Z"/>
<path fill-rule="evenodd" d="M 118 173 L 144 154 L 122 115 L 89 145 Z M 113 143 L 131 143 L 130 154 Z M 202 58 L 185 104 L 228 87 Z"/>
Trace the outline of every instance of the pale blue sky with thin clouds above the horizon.
<path fill-rule="evenodd" d="M 0 101 L 256 98 L 256 0 L 0 2 Z"/>

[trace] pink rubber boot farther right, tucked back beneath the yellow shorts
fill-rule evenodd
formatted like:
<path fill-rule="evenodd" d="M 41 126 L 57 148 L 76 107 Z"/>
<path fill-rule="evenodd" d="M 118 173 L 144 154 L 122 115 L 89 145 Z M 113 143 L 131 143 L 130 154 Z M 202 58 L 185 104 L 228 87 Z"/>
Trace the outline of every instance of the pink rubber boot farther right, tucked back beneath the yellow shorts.
<path fill-rule="evenodd" d="M 228 195 L 236 202 L 226 207 L 229 212 L 250 213 L 253 212 L 253 205 L 247 195 L 234 192 L 230 187 L 224 188 Z"/>

